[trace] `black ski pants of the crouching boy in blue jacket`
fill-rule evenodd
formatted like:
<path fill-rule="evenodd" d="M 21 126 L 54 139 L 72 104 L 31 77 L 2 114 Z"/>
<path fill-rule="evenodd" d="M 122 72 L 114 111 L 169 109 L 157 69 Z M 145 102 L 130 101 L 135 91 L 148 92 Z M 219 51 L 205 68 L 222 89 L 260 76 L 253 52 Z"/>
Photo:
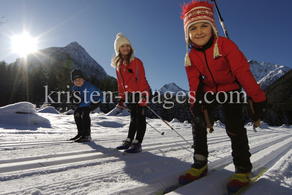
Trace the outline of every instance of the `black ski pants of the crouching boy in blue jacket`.
<path fill-rule="evenodd" d="M 92 103 L 85 107 L 77 107 L 74 110 L 74 120 L 77 126 L 78 132 L 83 132 L 83 130 L 90 130 L 91 120 L 89 117 L 89 113 L 93 110 L 100 107 L 102 104 L 101 101 L 98 103 Z"/>

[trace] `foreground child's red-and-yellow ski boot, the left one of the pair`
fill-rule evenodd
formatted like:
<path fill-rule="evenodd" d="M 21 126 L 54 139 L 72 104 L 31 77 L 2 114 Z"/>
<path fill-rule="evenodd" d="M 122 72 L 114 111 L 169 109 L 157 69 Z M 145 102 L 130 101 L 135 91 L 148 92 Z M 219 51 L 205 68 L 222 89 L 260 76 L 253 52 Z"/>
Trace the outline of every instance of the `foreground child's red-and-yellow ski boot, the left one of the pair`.
<path fill-rule="evenodd" d="M 201 176 L 204 176 L 208 172 L 208 158 L 195 154 L 194 155 L 194 164 L 191 165 L 185 175 L 181 175 L 178 178 L 178 182 L 181 185 L 188 184 L 194 180 L 199 179 Z"/>

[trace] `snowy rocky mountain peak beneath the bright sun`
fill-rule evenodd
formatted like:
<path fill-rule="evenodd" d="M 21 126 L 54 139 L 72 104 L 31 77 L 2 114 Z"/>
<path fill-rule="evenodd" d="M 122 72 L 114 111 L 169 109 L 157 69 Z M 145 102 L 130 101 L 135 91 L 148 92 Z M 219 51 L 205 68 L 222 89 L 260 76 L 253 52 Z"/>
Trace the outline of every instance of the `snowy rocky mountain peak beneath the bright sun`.
<path fill-rule="evenodd" d="M 27 55 L 27 64 L 38 66 L 43 64 L 49 68 L 53 63 L 62 64 L 70 54 L 74 62 L 74 68 L 81 69 L 89 77 L 95 75 L 103 79 L 107 73 L 105 70 L 86 52 L 86 50 L 77 42 L 72 42 L 65 47 L 49 47 Z M 16 61 L 24 61 L 17 59 Z"/>

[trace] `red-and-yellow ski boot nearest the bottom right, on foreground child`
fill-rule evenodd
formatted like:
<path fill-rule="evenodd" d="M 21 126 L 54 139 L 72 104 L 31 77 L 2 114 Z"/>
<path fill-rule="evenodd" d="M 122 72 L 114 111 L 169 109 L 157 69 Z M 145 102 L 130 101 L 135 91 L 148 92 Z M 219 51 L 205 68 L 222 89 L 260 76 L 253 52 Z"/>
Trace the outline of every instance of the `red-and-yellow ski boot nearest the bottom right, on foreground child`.
<path fill-rule="evenodd" d="M 237 192 L 241 187 L 248 185 L 251 180 L 252 165 L 241 167 L 235 165 L 235 173 L 231 177 L 231 182 L 227 184 L 229 192 Z"/>

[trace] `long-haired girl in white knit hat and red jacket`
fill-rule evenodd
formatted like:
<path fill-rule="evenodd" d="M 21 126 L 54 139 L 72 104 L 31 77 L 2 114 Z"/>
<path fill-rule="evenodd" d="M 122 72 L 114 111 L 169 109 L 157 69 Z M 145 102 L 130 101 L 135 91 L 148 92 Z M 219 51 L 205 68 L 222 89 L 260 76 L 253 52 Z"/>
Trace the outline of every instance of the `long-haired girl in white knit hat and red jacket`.
<path fill-rule="evenodd" d="M 117 56 L 112 59 L 111 65 L 116 68 L 117 73 L 120 98 L 117 107 L 124 108 L 125 92 L 131 93 L 131 122 L 128 136 L 115 150 L 125 150 L 124 153 L 142 152 L 141 143 L 146 131 L 146 108 L 150 87 L 145 78 L 142 61 L 134 57 L 135 51 L 131 42 L 122 33 L 117 35 L 114 49 Z"/>

